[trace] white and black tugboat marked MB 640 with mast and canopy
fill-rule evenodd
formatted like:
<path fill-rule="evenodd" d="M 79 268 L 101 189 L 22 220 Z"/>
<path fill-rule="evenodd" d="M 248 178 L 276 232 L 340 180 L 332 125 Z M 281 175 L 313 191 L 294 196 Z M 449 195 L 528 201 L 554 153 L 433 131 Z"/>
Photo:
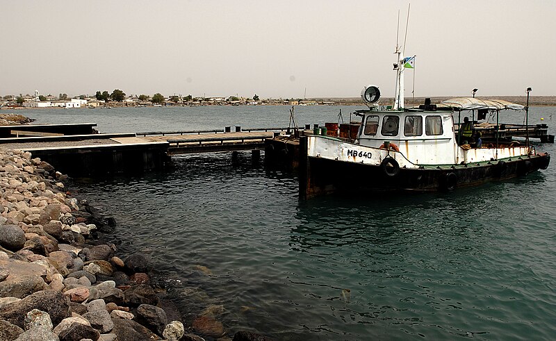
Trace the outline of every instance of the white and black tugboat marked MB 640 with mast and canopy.
<path fill-rule="evenodd" d="M 379 88 L 369 85 L 361 92 L 368 109 L 354 112 L 361 117 L 357 137 L 300 138 L 300 197 L 338 192 L 452 191 L 548 167 L 550 155 L 537 151 L 528 139 L 506 140 L 498 134 L 500 110 L 525 109 L 528 115 L 528 106 L 460 98 L 404 108 L 403 72 L 411 67 L 411 58 L 402 58 L 396 50 L 393 106 L 379 106 Z M 470 128 L 455 124 L 455 115 L 461 117 L 466 111 L 474 114 L 473 110 L 496 113 L 496 138 L 477 144 Z"/>

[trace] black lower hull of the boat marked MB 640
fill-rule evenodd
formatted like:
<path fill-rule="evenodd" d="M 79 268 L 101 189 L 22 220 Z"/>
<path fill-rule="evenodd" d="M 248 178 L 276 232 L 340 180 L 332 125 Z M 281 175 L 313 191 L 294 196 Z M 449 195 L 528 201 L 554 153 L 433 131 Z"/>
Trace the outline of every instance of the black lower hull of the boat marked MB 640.
<path fill-rule="evenodd" d="M 303 154 L 303 146 L 301 153 Z M 491 161 L 481 165 L 404 169 L 394 175 L 383 167 L 326 158 L 302 156 L 300 160 L 300 197 L 332 193 L 370 193 L 382 191 L 450 191 L 489 181 L 523 176 L 550 163 L 548 153 Z"/>

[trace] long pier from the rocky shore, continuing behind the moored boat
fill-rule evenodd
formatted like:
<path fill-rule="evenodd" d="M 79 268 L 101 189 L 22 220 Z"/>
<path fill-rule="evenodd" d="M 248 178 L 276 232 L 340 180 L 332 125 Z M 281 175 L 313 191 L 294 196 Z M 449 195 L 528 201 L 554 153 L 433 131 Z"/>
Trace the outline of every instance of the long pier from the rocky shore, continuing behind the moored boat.
<path fill-rule="evenodd" d="M 222 151 L 251 151 L 253 160 L 259 160 L 264 150 L 269 165 L 295 169 L 299 163 L 299 139 L 288 137 L 290 128 L 227 126 L 196 131 L 101 134 L 96 126 L 95 123 L 0 126 L 0 149 L 29 151 L 33 158 L 41 158 L 70 176 L 140 173 L 170 166 L 174 155 Z M 484 138 L 496 137 L 496 126 L 476 128 Z M 527 135 L 541 142 L 554 142 L 546 124 L 528 127 L 501 124 L 498 129 L 498 138 Z"/>

